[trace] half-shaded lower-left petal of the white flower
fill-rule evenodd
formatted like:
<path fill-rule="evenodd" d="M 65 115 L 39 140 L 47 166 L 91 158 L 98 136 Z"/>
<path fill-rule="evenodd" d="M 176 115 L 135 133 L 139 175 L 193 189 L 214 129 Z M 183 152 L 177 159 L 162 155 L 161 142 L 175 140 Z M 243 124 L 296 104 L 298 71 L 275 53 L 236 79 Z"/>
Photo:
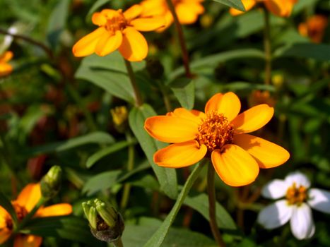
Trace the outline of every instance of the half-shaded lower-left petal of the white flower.
<path fill-rule="evenodd" d="M 274 229 L 288 222 L 292 213 L 293 206 L 288 205 L 286 200 L 278 200 L 261 210 L 257 220 L 264 228 Z"/>

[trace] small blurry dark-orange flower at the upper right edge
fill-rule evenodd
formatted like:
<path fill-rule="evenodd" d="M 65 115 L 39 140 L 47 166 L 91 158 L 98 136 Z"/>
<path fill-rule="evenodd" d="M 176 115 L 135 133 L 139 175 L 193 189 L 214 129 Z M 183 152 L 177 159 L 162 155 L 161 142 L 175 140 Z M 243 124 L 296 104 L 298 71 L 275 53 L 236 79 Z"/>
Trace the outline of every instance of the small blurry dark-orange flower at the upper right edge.
<path fill-rule="evenodd" d="M 298 30 L 300 35 L 310 37 L 312 42 L 322 42 L 324 30 L 328 25 L 328 18 L 322 15 L 315 15 L 307 19 L 305 23 L 300 23 Z"/>

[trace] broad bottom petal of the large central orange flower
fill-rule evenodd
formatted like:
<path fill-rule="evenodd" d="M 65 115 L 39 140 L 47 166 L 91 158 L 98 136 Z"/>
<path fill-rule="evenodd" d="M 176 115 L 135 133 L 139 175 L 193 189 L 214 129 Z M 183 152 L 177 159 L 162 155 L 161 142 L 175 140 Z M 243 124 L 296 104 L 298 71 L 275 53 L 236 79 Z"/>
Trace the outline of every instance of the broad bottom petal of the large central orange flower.
<path fill-rule="evenodd" d="M 256 160 L 237 145 L 225 145 L 223 152 L 214 150 L 211 159 L 220 179 L 230 186 L 252 183 L 259 174 Z"/>

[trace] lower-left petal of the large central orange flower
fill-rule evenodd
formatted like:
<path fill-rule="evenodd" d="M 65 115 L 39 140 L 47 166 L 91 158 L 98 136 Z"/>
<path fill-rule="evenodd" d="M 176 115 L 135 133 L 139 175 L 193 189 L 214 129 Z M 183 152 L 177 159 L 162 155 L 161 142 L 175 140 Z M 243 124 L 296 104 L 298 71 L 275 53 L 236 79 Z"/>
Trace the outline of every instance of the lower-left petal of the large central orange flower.
<path fill-rule="evenodd" d="M 180 168 L 199 162 L 206 155 L 205 145 L 196 140 L 175 143 L 155 152 L 153 161 L 161 167 Z"/>

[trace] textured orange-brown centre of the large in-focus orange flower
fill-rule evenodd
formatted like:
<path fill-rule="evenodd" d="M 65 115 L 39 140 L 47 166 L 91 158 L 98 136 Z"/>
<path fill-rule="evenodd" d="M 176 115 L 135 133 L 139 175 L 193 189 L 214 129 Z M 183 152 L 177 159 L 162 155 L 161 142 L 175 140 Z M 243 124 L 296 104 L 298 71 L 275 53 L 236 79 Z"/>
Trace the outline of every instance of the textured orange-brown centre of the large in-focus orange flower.
<path fill-rule="evenodd" d="M 196 140 L 204 144 L 209 152 L 222 149 L 226 144 L 233 141 L 234 128 L 228 119 L 218 112 L 208 112 L 206 118 L 199 125 L 199 133 Z"/>

